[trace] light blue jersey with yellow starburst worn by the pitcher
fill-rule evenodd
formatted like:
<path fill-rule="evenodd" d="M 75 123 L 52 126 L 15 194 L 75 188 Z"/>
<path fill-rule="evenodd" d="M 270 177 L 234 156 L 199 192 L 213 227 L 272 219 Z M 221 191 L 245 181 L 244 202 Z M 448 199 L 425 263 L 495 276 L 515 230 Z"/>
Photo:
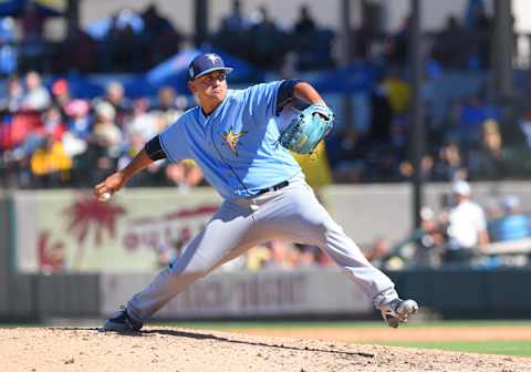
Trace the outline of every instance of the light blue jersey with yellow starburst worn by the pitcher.
<path fill-rule="evenodd" d="M 279 144 L 275 115 L 281 82 L 229 90 L 208 116 L 196 106 L 160 134 L 173 162 L 191 158 L 218 193 L 235 199 L 256 195 L 301 173 L 288 149 Z"/>

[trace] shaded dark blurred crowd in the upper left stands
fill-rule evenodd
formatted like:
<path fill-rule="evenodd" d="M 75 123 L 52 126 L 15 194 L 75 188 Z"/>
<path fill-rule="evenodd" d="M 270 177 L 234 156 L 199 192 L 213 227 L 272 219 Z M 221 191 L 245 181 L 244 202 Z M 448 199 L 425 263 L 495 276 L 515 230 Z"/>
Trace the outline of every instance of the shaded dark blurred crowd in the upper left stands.
<path fill-rule="evenodd" d="M 1 23 L 0 71 L 45 73 L 143 72 L 177 53 L 185 35 L 157 9 L 123 9 L 91 29 L 72 29 L 62 40 L 46 37 L 48 18 L 32 1 L 17 19 Z"/>

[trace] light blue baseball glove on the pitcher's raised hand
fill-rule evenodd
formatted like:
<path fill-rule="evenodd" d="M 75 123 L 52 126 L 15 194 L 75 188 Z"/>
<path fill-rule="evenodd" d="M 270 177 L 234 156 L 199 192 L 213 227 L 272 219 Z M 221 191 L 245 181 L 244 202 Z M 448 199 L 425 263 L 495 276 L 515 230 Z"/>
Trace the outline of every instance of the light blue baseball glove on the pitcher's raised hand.
<path fill-rule="evenodd" d="M 299 113 L 280 135 L 279 142 L 298 154 L 311 154 L 329 134 L 334 113 L 325 105 L 311 105 Z"/>

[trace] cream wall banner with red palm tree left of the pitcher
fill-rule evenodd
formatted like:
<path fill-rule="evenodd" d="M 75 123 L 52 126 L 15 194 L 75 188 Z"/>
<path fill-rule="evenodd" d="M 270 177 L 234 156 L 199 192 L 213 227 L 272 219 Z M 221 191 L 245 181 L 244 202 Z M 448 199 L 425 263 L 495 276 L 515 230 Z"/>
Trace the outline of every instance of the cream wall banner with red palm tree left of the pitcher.
<path fill-rule="evenodd" d="M 168 264 L 220 205 L 211 189 L 123 190 L 107 203 L 75 190 L 14 194 L 21 272 L 153 272 Z"/>

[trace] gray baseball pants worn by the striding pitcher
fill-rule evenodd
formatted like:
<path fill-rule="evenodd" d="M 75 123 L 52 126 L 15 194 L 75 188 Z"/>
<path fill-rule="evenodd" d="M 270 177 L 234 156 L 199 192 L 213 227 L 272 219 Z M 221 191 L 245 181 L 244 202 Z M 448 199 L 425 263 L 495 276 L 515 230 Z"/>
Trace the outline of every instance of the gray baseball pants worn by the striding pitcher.
<path fill-rule="evenodd" d="M 373 267 L 316 199 L 304 179 L 249 199 L 226 200 L 169 267 L 127 303 L 144 321 L 177 293 L 247 249 L 273 239 L 323 249 L 376 308 L 397 298 L 394 283 Z"/>

